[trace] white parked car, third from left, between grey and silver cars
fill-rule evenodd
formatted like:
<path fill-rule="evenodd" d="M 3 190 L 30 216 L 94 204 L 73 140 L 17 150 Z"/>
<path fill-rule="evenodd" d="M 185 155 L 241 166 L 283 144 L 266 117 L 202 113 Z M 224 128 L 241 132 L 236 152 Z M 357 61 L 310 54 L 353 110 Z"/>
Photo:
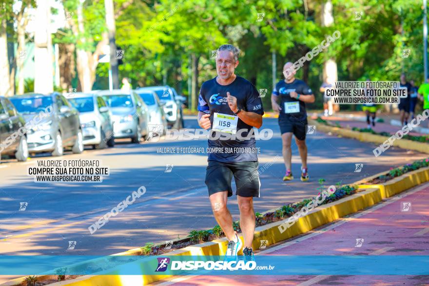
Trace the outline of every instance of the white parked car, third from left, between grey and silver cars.
<path fill-rule="evenodd" d="M 101 95 L 72 93 L 66 98 L 79 112 L 83 145 L 91 145 L 94 149 L 115 146 L 112 114 Z"/>

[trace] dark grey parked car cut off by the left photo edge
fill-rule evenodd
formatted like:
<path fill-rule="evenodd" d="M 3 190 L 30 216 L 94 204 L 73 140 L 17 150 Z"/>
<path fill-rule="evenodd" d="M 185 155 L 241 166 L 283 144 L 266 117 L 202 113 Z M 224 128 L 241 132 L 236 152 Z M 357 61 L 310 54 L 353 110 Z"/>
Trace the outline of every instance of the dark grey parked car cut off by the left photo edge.
<path fill-rule="evenodd" d="M 14 155 L 18 161 L 27 160 L 27 135 L 24 129 L 18 132 L 24 125 L 24 117 L 18 114 L 12 102 L 0 96 L 0 159 L 1 155 Z"/>

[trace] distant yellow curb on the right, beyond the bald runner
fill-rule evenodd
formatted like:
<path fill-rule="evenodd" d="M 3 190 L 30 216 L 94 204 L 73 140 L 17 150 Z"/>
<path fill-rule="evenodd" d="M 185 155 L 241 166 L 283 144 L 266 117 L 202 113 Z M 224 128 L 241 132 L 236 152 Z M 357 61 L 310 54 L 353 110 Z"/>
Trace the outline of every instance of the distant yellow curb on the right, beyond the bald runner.
<path fill-rule="evenodd" d="M 317 122 L 316 120 L 310 119 L 310 118 L 308 119 L 308 122 L 311 125 L 317 126 L 316 127 L 317 130 L 319 130 L 321 132 L 324 132 L 324 133 L 331 132 L 331 133 L 336 134 L 336 135 L 341 135 L 343 137 L 357 139 L 357 140 L 362 141 L 362 142 L 372 142 L 372 143 L 382 144 L 383 142 L 385 142 L 389 138 L 389 137 L 382 136 L 382 135 L 358 132 L 358 131 L 353 131 L 350 129 L 338 128 L 338 127 L 333 127 L 333 126 L 321 124 L 321 123 Z M 411 141 L 408 139 L 395 140 L 393 142 L 392 146 L 396 146 L 396 147 L 399 147 L 402 149 L 414 150 L 414 151 L 418 151 L 421 153 L 429 153 L 429 144 Z"/>

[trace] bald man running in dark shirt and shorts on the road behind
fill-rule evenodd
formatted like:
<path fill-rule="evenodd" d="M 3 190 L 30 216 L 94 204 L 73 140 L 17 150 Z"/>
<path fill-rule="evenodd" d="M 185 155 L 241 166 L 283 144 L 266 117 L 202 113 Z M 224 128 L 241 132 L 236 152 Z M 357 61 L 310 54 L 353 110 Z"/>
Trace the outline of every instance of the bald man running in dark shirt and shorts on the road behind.
<path fill-rule="evenodd" d="M 286 73 L 292 70 L 292 73 Z M 308 181 L 307 145 L 305 144 L 307 111 L 305 103 L 314 102 L 315 98 L 310 87 L 302 80 L 296 79 L 296 71 L 292 69 L 292 62 L 287 62 L 283 67 L 284 80 L 279 81 L 271 95 L 273 110 L 279 113 L 278 124 L 283 142 L 282 153 L 286 166 L 286 174 L 283 181 L 293 179 L 292 175 L 292 134 L 301 156 L 301 181 Z M 280 97 L 280 105 L 277 103 Z"/>

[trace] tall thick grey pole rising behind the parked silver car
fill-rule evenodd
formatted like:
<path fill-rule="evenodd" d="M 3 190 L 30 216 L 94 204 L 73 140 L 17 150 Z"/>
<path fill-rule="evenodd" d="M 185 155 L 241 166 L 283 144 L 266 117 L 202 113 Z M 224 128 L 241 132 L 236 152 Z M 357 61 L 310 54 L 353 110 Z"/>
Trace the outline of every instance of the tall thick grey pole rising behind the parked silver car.
<path fill-rule="evenodd" d="M 104 9 L 106 10 L 106 24 L 109 33 L 110 47 L 110 69 L 109 69 L 109 86 L 113 89 L 119 88 L 119 71 L 117 67 L 117 48 L 115 43 L 115 13 L 113 0 L 104 0 Z M 123 57 L 123 56 L 122 56 Z"/>

